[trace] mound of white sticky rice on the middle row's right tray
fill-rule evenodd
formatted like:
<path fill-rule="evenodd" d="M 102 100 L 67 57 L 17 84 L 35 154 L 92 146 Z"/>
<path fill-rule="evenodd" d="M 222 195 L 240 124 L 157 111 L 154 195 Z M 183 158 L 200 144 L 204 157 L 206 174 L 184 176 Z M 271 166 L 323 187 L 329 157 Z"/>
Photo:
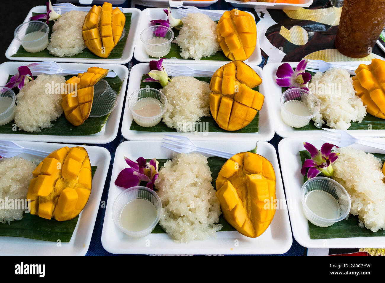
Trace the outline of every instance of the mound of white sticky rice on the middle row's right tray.
<path fill-rule="evenodd" d="M 346 69 L 317 72 L 310 81 L 309 89 L 321 104 L 320 113 L 313 118 L 318 128 L 326 121 L 332 129 L 347 130 L 350 122 L 360 123 L 366 116 L 366 107 L 356 96 L 353 80 Z"/>

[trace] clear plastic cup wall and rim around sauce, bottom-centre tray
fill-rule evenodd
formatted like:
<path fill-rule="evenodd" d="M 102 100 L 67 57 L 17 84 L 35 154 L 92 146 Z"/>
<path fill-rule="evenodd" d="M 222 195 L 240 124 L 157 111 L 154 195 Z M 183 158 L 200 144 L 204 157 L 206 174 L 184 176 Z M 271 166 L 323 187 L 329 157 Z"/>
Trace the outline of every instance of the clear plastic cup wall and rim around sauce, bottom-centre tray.
<path fill-rule="evenodd" d="M 129 231 L 122 226 L 121 214 L 124 207 L 126 207 L 126 205 L 129 204 L 132 200 L 136 199 L 143 199 L 151 202 L 156 209 L 157 215 L 154 221 L 152 221 L 151 225 L 149 225 L 146 229 L 141 231 Z M 114 220 L 115 225 L 125 234 L 134 238 L 141 238 L 150 234 L 152 230 L 154 230 L 156 224 L 158 224 L 159 219 L 161 218 L 161 212 L 162 202 L 156 192 L 147 187 L 137 186 L 126 189 L 118 195 L 112 206 L 112 219 Z"/>

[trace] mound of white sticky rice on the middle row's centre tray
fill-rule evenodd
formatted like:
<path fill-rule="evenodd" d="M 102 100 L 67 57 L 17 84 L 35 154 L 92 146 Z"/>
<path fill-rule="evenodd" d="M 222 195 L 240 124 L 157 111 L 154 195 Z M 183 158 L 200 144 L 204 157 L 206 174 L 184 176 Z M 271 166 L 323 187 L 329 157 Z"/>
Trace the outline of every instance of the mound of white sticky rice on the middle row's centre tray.
<path fill-rule="evenodd" d="M 209 83 L 194 77 L 173 77 L 163 89 L 169 106 L 163 115 L 163 122 L 178 131 L 194 131 L 195 122 L 202 116 L 210 116 Z"/>

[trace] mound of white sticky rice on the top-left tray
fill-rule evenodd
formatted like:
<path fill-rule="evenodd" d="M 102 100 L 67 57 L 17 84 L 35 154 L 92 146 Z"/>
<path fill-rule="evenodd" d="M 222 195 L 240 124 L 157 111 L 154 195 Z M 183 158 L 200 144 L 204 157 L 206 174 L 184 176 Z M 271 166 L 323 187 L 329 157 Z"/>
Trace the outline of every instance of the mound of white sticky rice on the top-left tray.
<path fill-rule="evenodd" d="M 47 46 L 50 54 L 65 57 L 83 52 L 86 46 L 82 37 L 82 26 L 86 15 L 83 11 L 70 11 L 55 22 Z"/>

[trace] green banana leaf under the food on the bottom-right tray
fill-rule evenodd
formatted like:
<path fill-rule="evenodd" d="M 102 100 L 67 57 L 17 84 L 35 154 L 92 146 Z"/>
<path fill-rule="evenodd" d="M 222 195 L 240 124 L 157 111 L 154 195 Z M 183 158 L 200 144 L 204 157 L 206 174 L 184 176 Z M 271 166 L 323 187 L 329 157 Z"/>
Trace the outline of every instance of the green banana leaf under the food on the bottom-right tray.
<path fill-rule="evenodd" d="M 382 163 L 385 161 L 385 154 L 372 153 L 375 157 L 380 158 Z M 302 165 L 306 159 L 311 158 L 307 150 L 300 151 Z M 303 181 L 307 181 L 307 177 L 303 177 Z M 366 228 L 358 226 L 358 216 L 350 215 L 347 220 L 341 220 L 329 227 L 319 227 L 309 222 L 310 239 L 333 239 L 333 238 L 354 238 L 354 237 L 383 237 L 384 230 L 373 232 Z"/>

